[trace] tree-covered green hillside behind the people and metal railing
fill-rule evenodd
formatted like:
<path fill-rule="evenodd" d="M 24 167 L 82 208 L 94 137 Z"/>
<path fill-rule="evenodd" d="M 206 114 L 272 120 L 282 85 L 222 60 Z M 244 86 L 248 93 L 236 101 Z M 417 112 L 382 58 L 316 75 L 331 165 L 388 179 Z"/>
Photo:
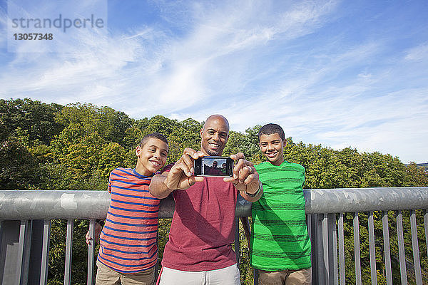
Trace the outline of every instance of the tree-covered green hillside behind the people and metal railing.
<path fill-rule="evenodd" d="M 0 100 L 0 190 L 105 190 L 108 173 L 116 167 L 136 165 L 135 147 L 143 135 L 163 133 L 169 141 L 168 162 L 180 157 L 185 147 L 199 148 L 199 130 L 203 122 L 192 118 L 170 120 L 162 115 L 135 120 L 123 112 L 91 104 L 46 104 L 37 100 Z M 258 150 L 257 133 L 260 125 L 244 133 L 230 130 L 230 138 L 223 155 L 243 152 L 254 163 L 263 161 Z M 404 165 L 398 157 L 380 152 L 357 152 L 352 147 L 332 150 L 322 145 L 293 142 L 288 138 L 285 159 L 297 162 L 306 169 L 306 189 L 339 187 L 414 187 L 427 186 L 428 174 L 414 163 Z M 360 216 L 361 217 L 361 216 Z M 419 213 L 418 224 L 422 224 Z M 365 217 L 361 217 L 362 223 Z M 160 222 L 161 247 L 168 239 L 168 220 Z M 65 251 L 64 221 L 52 226 L 49 261 L 49 284 L 63 281 Z M 75 223 L 73 243 L 73 284 L 86 284 L 86 244 L 84 234 L 87 221 Z M 409 223 L 407 223 L 409 224 Z M 347 219 L 347 239 L 352 240 L 352 218 Z M 377 224 L 382 231 L 382 224 Z M 392 229 L 394 231 L 394 229 Z M 410 231 L 406 231 L 409 234 Z M 420 234 L 419 234 L 420 232 Z M 241 233 L 243 234 L 243 233 Z M 362 249 L 367 249 L 367 232 L 361 230 Z M 381 232 L 376 234 L 382 237 Z M 392 234 L 393 236 L 393 234 Z M 422 268 L 428 268 L 427 250 L 424 249 L 424 231 L 418 229 L 421 245 Z M 396 239 L 397 237 L 395 237 Z M 244 239 L 242 239 L 244 240 Z M 411 239 L 406 237 L 411 243 Z M 396 250 L 392 237 L 392 254 Z M 241 275 L 243 284 L 253 279 L 248 267 L 245 243 Z M 162 250 L 160 252 L 162 257 Z M 347 279 L 355 282 L 353 248 L 347 249 Z M 379 260 L 382 256 L 379 253 Z M 364 264 L 363 276 L 370 279 L 370 266 Z M 379 284 L 382 283 L 382 264 Z M 367 270 L 368 269 L 368 270 Z M 394 283 L 399 282 L 397 264 Z"/>

